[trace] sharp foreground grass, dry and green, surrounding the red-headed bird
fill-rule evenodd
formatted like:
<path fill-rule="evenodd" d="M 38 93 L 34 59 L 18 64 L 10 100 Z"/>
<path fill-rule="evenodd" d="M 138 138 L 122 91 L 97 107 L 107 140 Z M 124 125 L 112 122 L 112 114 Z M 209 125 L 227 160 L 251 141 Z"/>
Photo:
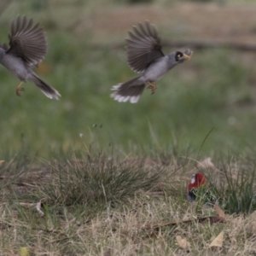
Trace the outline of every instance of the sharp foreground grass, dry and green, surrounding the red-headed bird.
<path fill-rule="evenodd" d="M 185 186 L 199 170 L 224 217 L 187 200 Z M 1 172 L 1 255 L 255 253 L 255 156 L 199 163 L 156 153 L 117 159 L 90 148 L 37 167 L 18 154 Z"/>

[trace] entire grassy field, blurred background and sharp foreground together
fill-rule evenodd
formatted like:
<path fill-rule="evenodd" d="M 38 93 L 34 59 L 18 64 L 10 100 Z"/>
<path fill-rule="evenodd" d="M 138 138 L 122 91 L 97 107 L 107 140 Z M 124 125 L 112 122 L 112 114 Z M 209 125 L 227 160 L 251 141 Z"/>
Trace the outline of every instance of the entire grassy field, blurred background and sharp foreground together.
<path fill-rule="evenodd" d="M 166 41 L 256 44 L 255 3 L 226 2 L 13 1 L 4 9 L 1 43 L 18 14 L 43 24 L 49 51 L 36 72 L 61 100 L 30 83 L 15 96 L 19 81 L 0 67 L 0 255 L 256 253 L 256 54 L 192 49 L 154 96 L 145 90 L 137 104 L 109 96 L 136 76 L 124 38 L 137 22 L 150 20 Z M 214 166 L 200 167 L 207 157 Z M 200 223 L 217 212 L 187 201 L 198 170 L 225 223 Z M 22 205 L 38 202 L 44 216 Z M 222 230 L 223 246 L 209 247 Z"/>

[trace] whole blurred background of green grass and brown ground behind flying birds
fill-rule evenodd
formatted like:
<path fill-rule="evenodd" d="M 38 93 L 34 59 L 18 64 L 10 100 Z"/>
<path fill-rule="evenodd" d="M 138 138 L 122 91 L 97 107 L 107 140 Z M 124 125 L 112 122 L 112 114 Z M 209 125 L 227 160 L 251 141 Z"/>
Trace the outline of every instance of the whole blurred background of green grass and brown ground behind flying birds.
<path fill-rule="evenodd" d="M 109 97 L 114 84 L 137 75 L 126 63 L 125 37 L 132 25 L 145 19 L 154 23 L 165 40 L 226 41 L 231 37 L 256 44 L 256 20 L 247 17 L 247 11 L 256 16 L 253 1 L 150 2 L 29 0 L 12 1 L 2 10 L 2 43 L 8 43 L 10 22 L 16 15 L 27 15 L 44 26 L 49 52 L 37 73 L 60 91 L 61 101 L 49 100 L 30 83 L 21 97 L 15 96 L 19 81 L 1 66 L 1 154 L 26 146 L 47 156 L 55 150 L 83 148 L 95 140 L 100 147 L 111 143 L 125 154 L 170 148 L 207 155 L 254 150 L 256 53 L 194 50 L 191 61 L 157 83 L 154 96 L 145 90 L 137 104 Z M 204 9 L 216 20 L 209 20 Z M 234 9 L 233 16 L 225 15 Z M 194 16 L 201 22 L 189 26 L 183 16 L 187 13 L 189 19 Z M 226 19 L 224 26 L 230 27 L 228 32 L 215 24 L 220 15 Z M 200 31 L 204 20 L 206 34 Z M 99 44 L 124 47 L 109 49 Z"/>

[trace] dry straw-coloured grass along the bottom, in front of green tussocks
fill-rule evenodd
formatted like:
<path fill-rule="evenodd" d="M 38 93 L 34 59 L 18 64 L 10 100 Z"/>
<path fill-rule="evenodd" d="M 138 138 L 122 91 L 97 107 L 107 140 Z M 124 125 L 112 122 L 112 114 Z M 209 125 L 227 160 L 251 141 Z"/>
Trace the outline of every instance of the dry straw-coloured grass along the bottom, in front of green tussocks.
<path fill-rule="evenodd" d="M 143 207 L 137 207 L 145 201 Z M 209 214 L 207 210 L 202 209 L 201 214 Z M 145 224 L 163 219 L 193 219 L 198 212 L 172 196 L 148 200 L 148 195 L 135 198 L 129 207 L 108 208 L 90 220 L 74 212 L 65 209 L 62 216 L 40 218 L 36 211 L 2 205 L 1 255 L 17 255 L 19 247 L 28 247 L 32 255 L 106 255 L 108 250 L 110 255 L 215 255 L 216 248 L 209 244 L 221 230 L 224 246 L 218 250 L 220 255 L 255 253 L 255 213 L 247 218 L 228 216 L 225 224 L 195 222 L 143 230 Z M 190 247 L 178 247 L 176 236 L 186 238 Z"/>

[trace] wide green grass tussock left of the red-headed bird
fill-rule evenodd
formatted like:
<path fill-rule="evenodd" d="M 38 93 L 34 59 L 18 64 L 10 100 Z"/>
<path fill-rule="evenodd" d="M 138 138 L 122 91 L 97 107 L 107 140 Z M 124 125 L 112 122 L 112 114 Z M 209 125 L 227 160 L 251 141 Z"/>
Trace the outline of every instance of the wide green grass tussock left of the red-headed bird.
<path fill-rule="evenodd" d="M 50 166 L 51 182 L 41 186 L 43 200 L 65 206 L 125 201 L 160 183 L 163 168 L 145 164 L 145 159 L 116 161 L 103 154 L 55 161 Z"/>

